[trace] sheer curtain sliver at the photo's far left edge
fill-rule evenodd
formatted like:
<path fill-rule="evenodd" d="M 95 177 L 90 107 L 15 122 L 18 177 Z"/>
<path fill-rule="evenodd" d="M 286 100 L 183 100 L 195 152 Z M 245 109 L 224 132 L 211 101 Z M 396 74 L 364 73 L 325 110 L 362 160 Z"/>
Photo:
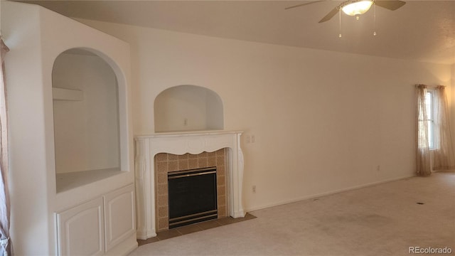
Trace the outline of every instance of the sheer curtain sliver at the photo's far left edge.
<path fill-rule="evenodd" d="M 9 192 L 8 192 L 8 132 L 6 122 L 6 85 L 4 76 L 4 56 L 9 51 L 0 35 L 0 255 L 12 255 L 9 238 Z"/>

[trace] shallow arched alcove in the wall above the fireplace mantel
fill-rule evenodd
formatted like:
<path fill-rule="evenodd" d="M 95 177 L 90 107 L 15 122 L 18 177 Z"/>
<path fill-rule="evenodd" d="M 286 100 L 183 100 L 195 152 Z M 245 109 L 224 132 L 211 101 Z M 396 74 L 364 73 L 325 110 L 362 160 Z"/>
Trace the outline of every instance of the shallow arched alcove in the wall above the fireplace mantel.
<path fill-rule="evenodd" d="M 223 102 L 216 92 L 196 85 L 178 85 L 154 102 L 155 132 L 224 129 Z"/>

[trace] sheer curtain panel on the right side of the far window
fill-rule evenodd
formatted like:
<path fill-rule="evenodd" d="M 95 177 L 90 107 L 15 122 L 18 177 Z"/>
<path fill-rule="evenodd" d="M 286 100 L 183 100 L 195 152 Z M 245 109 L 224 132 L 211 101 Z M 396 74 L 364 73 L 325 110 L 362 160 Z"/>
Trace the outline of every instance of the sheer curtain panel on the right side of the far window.
<path fill-rule="evenodd" d="M 449 124 L 446 90 L 438 86 L 434 90 L 434 151 L 433 170 L 455 169 L 455 155 Z"/>

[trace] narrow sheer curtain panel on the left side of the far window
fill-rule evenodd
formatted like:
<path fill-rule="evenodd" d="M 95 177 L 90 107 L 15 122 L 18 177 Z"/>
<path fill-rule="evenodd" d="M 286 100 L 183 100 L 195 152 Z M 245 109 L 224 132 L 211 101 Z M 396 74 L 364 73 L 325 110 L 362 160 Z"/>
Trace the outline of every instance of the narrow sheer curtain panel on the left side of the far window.
<path fill-rule="evenodd" d="M 416 160 L 417 175 L 429 176 L 432 174 L 429 156 L 428 115 L 426 104 L 427 86 L 417 85 L 417 136 Z"/>

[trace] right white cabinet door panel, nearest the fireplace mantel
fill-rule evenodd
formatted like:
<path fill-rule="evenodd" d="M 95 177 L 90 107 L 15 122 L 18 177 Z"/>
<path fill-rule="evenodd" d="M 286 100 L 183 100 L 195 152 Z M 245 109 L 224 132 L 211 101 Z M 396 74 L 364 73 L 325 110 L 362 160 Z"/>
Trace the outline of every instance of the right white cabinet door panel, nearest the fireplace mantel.
<path fill-rule="evenodd" d="M 136 230 L 134 186 L 126 186 L 105 196 L 106 251 Z"/>

